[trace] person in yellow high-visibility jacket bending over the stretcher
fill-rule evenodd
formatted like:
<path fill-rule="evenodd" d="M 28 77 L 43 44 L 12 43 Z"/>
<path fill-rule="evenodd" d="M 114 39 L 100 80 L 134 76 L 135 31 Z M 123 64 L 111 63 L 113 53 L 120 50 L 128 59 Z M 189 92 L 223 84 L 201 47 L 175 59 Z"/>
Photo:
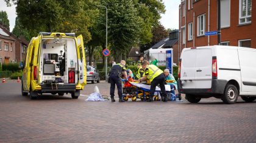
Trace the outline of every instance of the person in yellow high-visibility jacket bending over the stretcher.
<path fill-rule="evenodd" d="M 161 92 L 163 94 L 163 102 L 166 102 L 166 91 L 165 91 L 165 75 L 163 74 L 163 71 L 159 69 L 155 65 L 148 65 L 148 61 L 143 61 L 142 68 L 145 71 L 145 75 L 138 80 L 138 82 L 146 80 L 148 78 L 151 81 L 151 87 L 150 87 L 150 96 L 149 96 L 149 102 L 153 101 L 153 96 L 155 93 L 155 87 L 159 84 L 161 88 Z"/>

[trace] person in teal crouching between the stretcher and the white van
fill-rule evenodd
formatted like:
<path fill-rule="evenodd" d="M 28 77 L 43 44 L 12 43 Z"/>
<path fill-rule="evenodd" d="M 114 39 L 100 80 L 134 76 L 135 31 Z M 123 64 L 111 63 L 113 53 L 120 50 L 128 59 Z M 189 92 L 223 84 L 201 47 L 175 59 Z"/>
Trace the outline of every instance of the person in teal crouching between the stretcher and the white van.
<path fill-rule="evenodd" d="M 174 81 L 172 83 L 166 82 L 168 85 L 171 86 L 171 97 L 168 97 L 168 99 L 171 100 L 171 101 L 175 101 L 177 98 L 179 100 L 181 100 L 182 97 L 181 97 L 180 93 L 178 93 L 177 95 L 175 94 L 175 89 L 177 89 L 178 86 L 177 86 L 177 82 L 176 82 L 174 76 L 172 74 L 170 74 L 169 69 L 165 69 L 165 71 L 163 71 L 163 73 L 165 74 L 165 80 Z"/>

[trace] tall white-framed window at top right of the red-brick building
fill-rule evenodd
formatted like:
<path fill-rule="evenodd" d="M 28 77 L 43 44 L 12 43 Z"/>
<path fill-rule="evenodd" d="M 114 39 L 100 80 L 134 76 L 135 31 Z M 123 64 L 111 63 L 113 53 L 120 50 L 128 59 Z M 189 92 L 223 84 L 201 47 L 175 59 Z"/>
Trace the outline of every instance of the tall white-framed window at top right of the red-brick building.
<path fill-rule="evenodd" d="M 252 0 L 240 0 L 239 13 L 239 24 L 251 23 Z"/>

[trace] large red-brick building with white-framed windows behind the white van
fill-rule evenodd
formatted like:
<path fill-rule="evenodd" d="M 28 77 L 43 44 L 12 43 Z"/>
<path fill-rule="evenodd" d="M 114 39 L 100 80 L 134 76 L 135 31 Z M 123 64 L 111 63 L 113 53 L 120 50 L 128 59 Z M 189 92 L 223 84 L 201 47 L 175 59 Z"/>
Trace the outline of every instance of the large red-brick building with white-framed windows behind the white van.
<path fill-rule="evenodd" d="M 221 0 L 221 44 L 256 48 L 256 4 L 252 0 Z M 218 0 L 181 0 L 179 49 L 218 44 Z"/>

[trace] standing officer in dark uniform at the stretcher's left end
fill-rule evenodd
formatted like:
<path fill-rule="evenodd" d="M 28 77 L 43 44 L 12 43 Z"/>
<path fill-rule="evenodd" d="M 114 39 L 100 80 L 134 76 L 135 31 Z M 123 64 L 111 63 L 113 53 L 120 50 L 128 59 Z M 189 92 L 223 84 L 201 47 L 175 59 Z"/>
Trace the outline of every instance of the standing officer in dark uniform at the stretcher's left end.
<path fill-rule="evenodd" d="M 119 102 L 124 102 L 123 100 L 123 94 L 122 94 L 122 83 L 121 83 L 121 77 L 126 79 L 127 78 L 127 73 L 126 73 L 126 61 L 121 60 L 120 63 L 114 65 L 109 72 L 110 74 L 110 96 L 111 96 L 111 101 L 115 102 L 115 85 L 118 88 L 118 97 L 119 97 Z"/>

